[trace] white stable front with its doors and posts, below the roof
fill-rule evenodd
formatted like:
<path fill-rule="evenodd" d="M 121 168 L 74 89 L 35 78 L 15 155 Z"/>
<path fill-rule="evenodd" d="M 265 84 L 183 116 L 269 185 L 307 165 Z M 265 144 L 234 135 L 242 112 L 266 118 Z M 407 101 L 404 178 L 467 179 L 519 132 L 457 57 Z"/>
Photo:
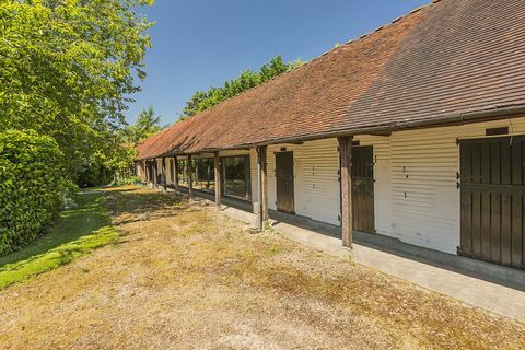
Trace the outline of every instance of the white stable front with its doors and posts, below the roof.
<path fill-rule="evenodd" d="M 489 135 L 494 130 L 512 135 Z M 255 226 L 259 229 L 270 218 L 288 213 L 338 228 L 332 235 L 342 238 L 346 247 L 351 247 L 353 231 L 366 232 L 523 270 L 525 225 L 518 213 L 525 208 L 525 173 L 522 163 L 513 160 L 525 154 L 523 132 L 525 117 L 518 116 L 384 135 L 167 154 L 145 164 L 156 164 L 147 172 L 159 174 L 150 182 L 153 186 L 212 196 L 217 205 L 236 199 L 245 211 L 257 215 Z M 474 158 L 472 150 L 477 152 Z M 488 165 L 493 183 L 472 183 L 483 178 L 476 174 Z M 504 179 L 503 175 L 512 177 Z M 508 185 L 502 185 L 504 182 Z M 491 197 L 483 195 L 487 191 Z M 510 196 L 515 198 L 510 200 Z M 500 206 L 487 201 L 490 198 L 495 205 L 500 200 Z M 474 211 L 476 208 L 482 211 Z M 488 208 L 491 212 L 486 213 Z M 494 224 L 483 224 L 487 220 Z M 491 232 L 491 240 L 486 238 Z"/>

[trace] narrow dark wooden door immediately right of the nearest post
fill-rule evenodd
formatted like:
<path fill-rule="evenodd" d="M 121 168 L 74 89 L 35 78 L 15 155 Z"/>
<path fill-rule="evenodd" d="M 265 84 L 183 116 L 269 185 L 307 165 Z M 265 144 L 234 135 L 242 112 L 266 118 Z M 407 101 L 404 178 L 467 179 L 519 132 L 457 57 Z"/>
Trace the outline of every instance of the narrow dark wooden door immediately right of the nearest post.
<path fill-rule="evenodd" d="M 353 230 L 375 233 L 374 219 L 374 149 L 352 148 L 352 217 Z"/>

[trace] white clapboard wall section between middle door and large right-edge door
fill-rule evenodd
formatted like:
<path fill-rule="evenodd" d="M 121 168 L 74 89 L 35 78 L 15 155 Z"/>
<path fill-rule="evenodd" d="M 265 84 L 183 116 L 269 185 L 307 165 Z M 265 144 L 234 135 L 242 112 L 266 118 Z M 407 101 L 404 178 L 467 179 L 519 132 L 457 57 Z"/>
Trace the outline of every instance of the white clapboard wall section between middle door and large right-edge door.
<path fill-rule="evenodd" d="M 525 133 L 525 118 L 393 133 L 393 221 L 387 234 L 455 254 L 460 226 L 456 139 L 485 137 L 487 128 L 505 126 Z"/>

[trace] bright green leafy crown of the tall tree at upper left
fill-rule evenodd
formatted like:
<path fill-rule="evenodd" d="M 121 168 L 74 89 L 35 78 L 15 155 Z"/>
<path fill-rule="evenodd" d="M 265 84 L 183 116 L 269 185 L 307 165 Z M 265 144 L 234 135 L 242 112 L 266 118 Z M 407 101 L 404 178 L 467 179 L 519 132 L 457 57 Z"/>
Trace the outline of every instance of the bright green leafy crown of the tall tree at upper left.
<path fill-rule="evenodd" d="M 152 0 L 0 1 L 0 131 L 51 136 L 67 171 L 93 163 L 118 129 L 151 23 Z"/>

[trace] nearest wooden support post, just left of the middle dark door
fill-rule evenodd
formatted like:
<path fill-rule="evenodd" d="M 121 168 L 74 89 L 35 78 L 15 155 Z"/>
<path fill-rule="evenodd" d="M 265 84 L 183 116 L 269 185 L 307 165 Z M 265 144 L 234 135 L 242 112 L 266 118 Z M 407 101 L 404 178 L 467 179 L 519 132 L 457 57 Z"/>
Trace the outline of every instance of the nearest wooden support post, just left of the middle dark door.
<path fill-rule="evenodd" d="M 339 137 L 339 156 L 341 160 L 341 232 L 342 245 L 352 246 L 352 142 L 353 136 Z"/>

